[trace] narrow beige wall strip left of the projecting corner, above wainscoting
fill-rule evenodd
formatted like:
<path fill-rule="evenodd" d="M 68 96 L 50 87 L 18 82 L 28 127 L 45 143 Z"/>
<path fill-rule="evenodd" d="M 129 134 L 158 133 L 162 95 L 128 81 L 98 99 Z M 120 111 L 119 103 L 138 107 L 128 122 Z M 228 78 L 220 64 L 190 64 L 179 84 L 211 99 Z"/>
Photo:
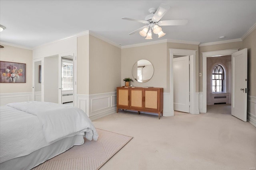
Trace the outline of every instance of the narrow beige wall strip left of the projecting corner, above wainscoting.
<path fill-rule="evenodd" d="M 89 35 L 77 37 L 77 94 L 89 94 Z"/>

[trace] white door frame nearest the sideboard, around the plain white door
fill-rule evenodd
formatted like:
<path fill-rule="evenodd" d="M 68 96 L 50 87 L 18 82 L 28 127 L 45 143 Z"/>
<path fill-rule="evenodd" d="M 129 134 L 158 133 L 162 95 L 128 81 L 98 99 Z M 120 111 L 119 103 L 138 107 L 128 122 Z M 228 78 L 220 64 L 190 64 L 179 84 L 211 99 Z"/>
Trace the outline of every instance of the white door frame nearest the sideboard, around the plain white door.
<path fill-rule="evenodd" d="M 184 55 L 190 56 L 190 109 L 189 113 L 199 114 L 198 98 L 196 97 L 196 51 L 197 50 L 187 50 L 187 49 L 169 49 L 170 51 L 170 109 L 172 115 L 174 115 L 173 106 L 173 56 L 174 55 Z M 197 99 L 196 99 L 197 98 Z"/>

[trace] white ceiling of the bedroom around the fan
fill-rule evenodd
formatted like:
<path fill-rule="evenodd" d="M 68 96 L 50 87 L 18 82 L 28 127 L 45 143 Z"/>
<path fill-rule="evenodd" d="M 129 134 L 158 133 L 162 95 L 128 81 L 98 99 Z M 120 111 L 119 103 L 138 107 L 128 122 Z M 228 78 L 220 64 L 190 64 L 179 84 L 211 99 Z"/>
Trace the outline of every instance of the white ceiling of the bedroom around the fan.
<path fill-rule="evenodd" d="M 183 26 L 161 26 L 151 40 L 128 33 L 143 23 L 149 8 L 168 4 L 162 20 L 187 19 Z M 0 0 L 0 41 L 36 47 L 90 30 L 122 46 L 173 39 L 210 43 L 240 39 L 256 23 L 256 0 Z M 226 36 L 225 39 L 219 39 Z"/>

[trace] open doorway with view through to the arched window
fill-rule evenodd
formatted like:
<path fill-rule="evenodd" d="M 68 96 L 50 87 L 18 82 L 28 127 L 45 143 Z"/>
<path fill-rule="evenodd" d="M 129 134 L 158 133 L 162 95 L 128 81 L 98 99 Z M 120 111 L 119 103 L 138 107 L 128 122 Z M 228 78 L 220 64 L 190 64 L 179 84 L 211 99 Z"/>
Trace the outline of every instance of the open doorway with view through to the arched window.
<path fill-rule="evenodd" d="M 231 55 L 206 60 L 207 112 L 231 115 Z"/>

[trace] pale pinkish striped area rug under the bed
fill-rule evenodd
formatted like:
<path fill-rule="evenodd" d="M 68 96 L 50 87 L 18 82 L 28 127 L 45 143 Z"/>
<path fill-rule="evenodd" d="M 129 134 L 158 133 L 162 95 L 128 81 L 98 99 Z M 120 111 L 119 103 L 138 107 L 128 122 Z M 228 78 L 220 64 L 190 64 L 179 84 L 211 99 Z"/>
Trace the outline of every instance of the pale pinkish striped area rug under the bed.
<path fill-rule="evenodd" d="M 33 170 L 98 170 L 133 138 L 102 129 L 97 132 L 98 141 L 85 139 L 83 145 L 74 146 Z"/>

